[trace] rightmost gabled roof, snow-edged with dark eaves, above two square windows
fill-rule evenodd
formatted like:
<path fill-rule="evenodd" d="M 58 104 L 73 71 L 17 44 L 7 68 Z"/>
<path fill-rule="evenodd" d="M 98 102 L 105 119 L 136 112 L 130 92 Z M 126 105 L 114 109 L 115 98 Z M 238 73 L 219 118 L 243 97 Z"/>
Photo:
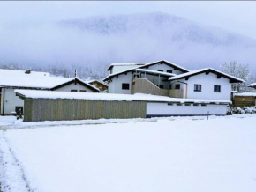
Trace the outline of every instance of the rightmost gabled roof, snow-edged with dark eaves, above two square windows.
<path fill-rule="evenodd" d="M 230 83 L 243 83 L 244 80 L 241 78 L 236 78 L 234 76 L 230 76 L 227 73 L 223 73 L 222 71 L 219 70 L 214 70 L 212 68 L 205 68 L 205 69 L 200 69 L 200 70 L 192 70 L 190 72 L 184 73 L 184 74 L 180 74 L 177 75 L 175 77 L 169 78 L 170 81 L 172 80 L 178 80 L 178 79 L 183 79 L 183 78 L 190 78 L 192 76 L 196 76 L 199 75 L 201 73 L 214 73 L 215 75 L 217 75 L 218 77 L 223 77 L 223 78 L 229 78 L 230 79 Z"/>

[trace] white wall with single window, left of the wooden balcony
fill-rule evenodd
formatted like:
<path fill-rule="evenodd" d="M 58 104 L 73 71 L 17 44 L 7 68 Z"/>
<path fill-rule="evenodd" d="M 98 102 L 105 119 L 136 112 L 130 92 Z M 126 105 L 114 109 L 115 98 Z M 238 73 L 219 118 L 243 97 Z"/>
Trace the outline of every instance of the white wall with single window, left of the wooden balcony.
<path fill-rule="evenodd" d="M 123 90 L 122 84 L 129 84 L 129 90 Z M 109 83 L 109 93 L 118 93 L 118 94 L 131 94 L 132 90 L 132 72 L 128 72 L 127 75 L 119 75 L 118 78 L 112 78 L 112 82 Z"/>

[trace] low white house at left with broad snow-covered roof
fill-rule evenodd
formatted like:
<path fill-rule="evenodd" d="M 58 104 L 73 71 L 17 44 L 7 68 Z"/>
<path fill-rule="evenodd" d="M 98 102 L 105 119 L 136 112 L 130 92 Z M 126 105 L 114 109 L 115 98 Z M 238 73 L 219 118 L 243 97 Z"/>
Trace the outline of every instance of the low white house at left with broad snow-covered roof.
<path fill-rule="evenodd" d="M 17 112 L 19 109 L 23 110 L 24 101 L 16 96 L 15 89 L 99 92 L 93 85 L 79 78 L 56 78 L 49 77 L 49 73 L 34 71 L 25 73 L 22 70 L 0 70 L 0 74 L 0 113 L 2 115 Z"/>

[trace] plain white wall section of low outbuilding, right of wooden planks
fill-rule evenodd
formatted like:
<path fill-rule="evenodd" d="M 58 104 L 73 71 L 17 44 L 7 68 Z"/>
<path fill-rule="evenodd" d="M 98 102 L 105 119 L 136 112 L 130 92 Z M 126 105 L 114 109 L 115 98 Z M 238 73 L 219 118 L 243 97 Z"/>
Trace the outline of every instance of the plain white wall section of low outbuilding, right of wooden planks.
<path fill-rule="evenodd" d="M 228 107 L 226 105 L 207 106 L 169 106 L 167 103 L 147 103 L 147 115 L 226 115 Z"/>

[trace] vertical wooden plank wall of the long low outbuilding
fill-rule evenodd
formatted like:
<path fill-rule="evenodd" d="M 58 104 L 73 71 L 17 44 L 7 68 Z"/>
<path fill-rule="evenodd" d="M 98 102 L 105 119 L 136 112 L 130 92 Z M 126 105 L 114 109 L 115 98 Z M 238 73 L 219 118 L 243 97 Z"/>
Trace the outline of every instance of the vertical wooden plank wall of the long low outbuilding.
<path fill-rule="evenodd" d="M 145 117 L 145 101 L 25 100 L 24 122 Z"/>

